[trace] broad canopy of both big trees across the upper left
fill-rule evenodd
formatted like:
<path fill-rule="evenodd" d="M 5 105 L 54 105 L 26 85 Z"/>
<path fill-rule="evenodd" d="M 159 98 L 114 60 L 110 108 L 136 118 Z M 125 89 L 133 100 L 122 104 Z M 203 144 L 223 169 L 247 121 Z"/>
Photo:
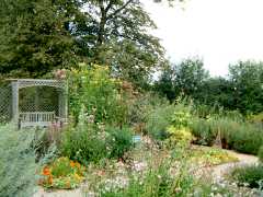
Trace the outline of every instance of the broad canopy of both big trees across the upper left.
<path fill-rule="evenodd" d="M 39 77 L 84 60 L 141 82 L 163 60 L 138 0 L 3 0 L 0 23 L 1 73 Z"/>

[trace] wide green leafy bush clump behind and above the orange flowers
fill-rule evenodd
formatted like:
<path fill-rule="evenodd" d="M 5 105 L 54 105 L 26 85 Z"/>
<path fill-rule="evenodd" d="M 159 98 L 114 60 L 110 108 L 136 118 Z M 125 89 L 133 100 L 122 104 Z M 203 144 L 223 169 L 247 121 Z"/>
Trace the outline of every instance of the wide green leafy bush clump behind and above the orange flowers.
<path fill-rule="evenodd" d="M 92 115 L 82 108 L 77 127 L 69 127 L 62 135 L 61 153 L 88 165 L 103 159 L 122 158 L 132 148 L 132 131 L 128 128 L 95 124 Z"/>

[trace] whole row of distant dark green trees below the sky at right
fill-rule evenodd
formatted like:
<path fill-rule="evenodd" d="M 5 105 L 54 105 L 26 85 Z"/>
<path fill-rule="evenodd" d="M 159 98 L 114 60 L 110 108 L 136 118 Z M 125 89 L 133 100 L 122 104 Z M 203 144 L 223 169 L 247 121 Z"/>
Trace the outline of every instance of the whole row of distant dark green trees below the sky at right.
<path fill-rule="evenodd" d="M 186 59 L 173 67 L 167 66 L 155 90 L 174 101 L 184 94 L 197 105 L 221 106 L 240 111 L 243 115 L 263 111 L 263 66 L 256 61 L 239 61 L 229 67 L 226 78 L 209 77 L 199 59 Z"/>

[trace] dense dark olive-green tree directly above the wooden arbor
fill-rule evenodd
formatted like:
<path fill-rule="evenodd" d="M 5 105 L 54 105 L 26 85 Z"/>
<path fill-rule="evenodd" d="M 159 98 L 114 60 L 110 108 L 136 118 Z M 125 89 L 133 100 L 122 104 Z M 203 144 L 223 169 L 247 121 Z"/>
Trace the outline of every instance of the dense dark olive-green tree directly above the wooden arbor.
<path fill-rule="evenodd" d="M 0 73 L 39 77 L 73 65 L 77 48 L 68 28 L 76 5 L 65 0 L 1 0 Z"/>

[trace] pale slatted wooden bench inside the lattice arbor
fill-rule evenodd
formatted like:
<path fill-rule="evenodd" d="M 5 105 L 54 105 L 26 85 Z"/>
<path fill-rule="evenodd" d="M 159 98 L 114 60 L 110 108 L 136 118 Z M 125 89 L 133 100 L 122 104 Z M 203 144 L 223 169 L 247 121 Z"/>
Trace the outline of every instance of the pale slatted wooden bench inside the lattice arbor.
<path fill-rule="evenodd" d="M 56 118 L 55 112 L 24 112 L 20 113 L 20 127 L 47 127 Z"/>

